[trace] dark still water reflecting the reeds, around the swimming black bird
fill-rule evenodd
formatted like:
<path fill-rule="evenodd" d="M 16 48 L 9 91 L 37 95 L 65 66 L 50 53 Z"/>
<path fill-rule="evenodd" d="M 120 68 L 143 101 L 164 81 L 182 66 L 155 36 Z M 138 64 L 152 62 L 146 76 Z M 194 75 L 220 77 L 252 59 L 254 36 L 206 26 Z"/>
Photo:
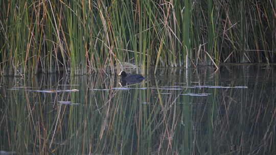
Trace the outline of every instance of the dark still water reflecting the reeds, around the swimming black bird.
<path fill-rule="evenodd" d="M 1 153 L 275 154 L 275 67 L 1 77 Z"/>

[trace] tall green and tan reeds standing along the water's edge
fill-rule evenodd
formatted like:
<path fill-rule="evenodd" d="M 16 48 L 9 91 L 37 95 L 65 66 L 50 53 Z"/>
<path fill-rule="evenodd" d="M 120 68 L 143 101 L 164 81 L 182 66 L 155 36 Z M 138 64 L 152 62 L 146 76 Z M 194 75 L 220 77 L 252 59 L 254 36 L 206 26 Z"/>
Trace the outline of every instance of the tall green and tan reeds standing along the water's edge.
<path fill-rule="evenodd" d="M 0 72 L 275 62 L 276 2 L 2 1 Z M 122 67 L 121 67 L 122 68 Z M 156 72 L 156 69 L 155 69 Z"/>

